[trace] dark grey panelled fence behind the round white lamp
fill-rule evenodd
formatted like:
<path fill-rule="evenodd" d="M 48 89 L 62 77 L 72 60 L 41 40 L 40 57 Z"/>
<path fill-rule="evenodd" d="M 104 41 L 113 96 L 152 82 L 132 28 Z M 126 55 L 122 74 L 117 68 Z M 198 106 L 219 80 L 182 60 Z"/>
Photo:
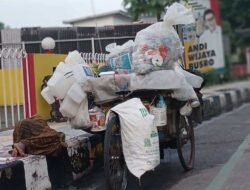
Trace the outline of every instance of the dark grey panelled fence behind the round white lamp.
<path fill-rule="evenodd" d="M 42 53 L 41 41 L 52 37 L 56 41 L 55 53 L 80 52 L 105 53 L 105 46 L 116 42 L 118 45 L 134 39 L 138 31 L 150 24 L 130 24 L 104 27 L 52 27 L 22 28 L 21 41 L 25 42 L 28 53 Z"/>

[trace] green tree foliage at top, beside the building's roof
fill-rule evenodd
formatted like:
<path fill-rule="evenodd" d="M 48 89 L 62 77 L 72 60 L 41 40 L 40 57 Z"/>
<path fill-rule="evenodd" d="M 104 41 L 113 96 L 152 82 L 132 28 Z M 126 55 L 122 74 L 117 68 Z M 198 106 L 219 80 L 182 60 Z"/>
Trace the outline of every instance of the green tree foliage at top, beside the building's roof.
<path fill-rule="evenodd" d="M 157 20 L 160 20 L 165 7 L 173 2 L 176 0 L 124 0 L 123 5 L 133 20 L 138 20 L 143 14 L 155 16 Z"/>

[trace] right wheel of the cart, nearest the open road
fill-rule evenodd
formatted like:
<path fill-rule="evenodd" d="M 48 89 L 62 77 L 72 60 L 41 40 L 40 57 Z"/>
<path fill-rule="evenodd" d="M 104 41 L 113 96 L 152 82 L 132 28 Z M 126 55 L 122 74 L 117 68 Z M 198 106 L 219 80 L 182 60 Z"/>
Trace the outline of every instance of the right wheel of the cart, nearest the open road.
<path fill-rule="evenodd" d="M 194 129 L 190 117 L 177 114 L 177 151 L 182 167 L 189 171 L 194 167 Z"/>

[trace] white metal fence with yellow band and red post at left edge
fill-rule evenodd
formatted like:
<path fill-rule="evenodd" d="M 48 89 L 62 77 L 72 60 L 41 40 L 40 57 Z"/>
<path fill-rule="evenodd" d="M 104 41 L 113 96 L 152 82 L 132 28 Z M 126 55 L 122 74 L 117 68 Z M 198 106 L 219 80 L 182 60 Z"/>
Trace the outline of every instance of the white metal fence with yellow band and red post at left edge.
<path fill-rule="evenodd" d="M 26 51 L 23 48 L 1 48 L 0 61 L 0 130 L 2 130 L 13 127 L 27 115 L 31 116 L 31 109 Z M 27 100 L 25 91 L 28 95 Z"/>

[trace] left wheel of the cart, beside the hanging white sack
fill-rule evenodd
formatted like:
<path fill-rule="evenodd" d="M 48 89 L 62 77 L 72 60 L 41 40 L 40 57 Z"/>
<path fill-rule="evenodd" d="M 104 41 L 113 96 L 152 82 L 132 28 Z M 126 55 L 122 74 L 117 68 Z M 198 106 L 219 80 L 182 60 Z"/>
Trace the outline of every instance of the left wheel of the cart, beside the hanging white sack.
<path fill-rule="evenodd" d="M 118 115 L 111 113 L 104 140 L 104 171 L 109 189 L 125 190 L 127 167 L 122 151 L 121 128 Z"/>

